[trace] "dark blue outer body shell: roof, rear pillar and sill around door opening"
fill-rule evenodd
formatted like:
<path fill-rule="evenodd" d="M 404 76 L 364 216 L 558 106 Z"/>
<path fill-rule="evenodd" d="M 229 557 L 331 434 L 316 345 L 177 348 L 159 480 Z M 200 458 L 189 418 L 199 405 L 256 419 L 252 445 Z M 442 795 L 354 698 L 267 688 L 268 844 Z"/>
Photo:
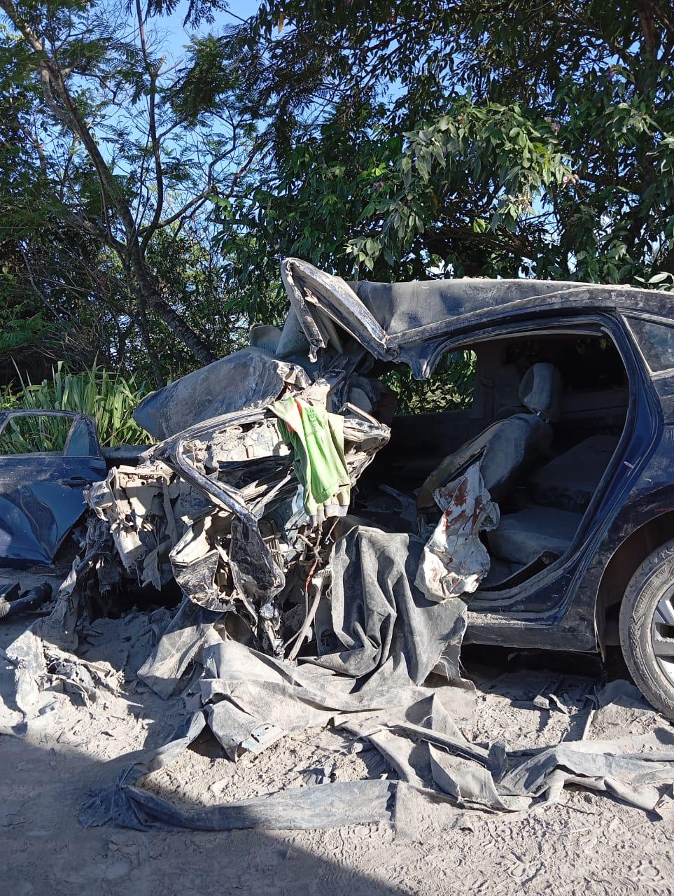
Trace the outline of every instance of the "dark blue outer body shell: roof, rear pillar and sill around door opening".
<path fill-rule="evenodd" d="M 674 538 L 670 294 L 540 280 L 345 284 L 298 259 L 287 259 L 282 273 L 315 355 L 330 319 L 375 358 L 405 363 L 419 379 L 446 352 L 482 340 L 588 328 L 609 335 L 629 386 L 618 449 L 565 556 L 513 589 L 479 590 L 466 640 L 556 650 L 618 643 L 627 583 L 652 550 Z"/>

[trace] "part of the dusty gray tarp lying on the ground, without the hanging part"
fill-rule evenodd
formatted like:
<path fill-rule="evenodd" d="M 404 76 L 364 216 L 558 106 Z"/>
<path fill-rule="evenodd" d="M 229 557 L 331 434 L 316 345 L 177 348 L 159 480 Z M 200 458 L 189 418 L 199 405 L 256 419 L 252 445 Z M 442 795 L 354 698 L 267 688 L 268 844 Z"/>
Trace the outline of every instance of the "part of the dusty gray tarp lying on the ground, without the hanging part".
<path fill-rule="evenodd" d="M 650 753 L 631 753 L 614 741 L 581 741 L 508 756 L 503 745 L 485 748 L 462 737 L 443 703 L 442 692 L 455 690 L 451 685 L 363 694 L 333 672 L 293 667 L 236 642 L 212 650 L 201 685 L 203 710 L 167 745 L 122 771 L 113 788 L 92 797 L 81 814 L 84 825 L 307 829 L 400 818 L 391 798 L 399 793 L 395 781 L 328 783 L 187 811 L 143 790 L 143 778 L 177 759 L 206 724 L 234 758 L 242 747 L 260 752 L 286 732 L 332 720 L 367 737 L 403 786 L 461 809 L 527 811 L 554 802 L 566 784 L 576 784 L 652 810 L 660 797 L 657 785 L 674 778 L 671 734 L 664 729 L 653 733 L 654 745 L 664 748 Z"/>

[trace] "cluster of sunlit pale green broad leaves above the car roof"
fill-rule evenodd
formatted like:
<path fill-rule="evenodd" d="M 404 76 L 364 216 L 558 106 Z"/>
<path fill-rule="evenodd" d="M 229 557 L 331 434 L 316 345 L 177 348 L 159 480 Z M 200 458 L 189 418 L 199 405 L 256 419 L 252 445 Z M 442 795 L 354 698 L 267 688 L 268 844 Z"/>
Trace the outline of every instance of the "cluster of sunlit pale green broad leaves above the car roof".
<path fill-rule="evenodd" d="M 389 259 L 402 258 L 470 194 L 483 198 L 479 214 L 466 215 L 460 225 L 466 235 L 514 230 L 543 184 L 562 185 L 573 177 L 557 142 L 538 139 L 539 125 L 516 106 L 456 100 L 450 115 L 405 134 L 402 156 L 387 169 L 391 198 L 380 209 L 388 212 L 381 237 L 352 237 L 348 251 L 368 270 L 385 248 Z M 373 203 L 367 211 L 375 211 Z"/>

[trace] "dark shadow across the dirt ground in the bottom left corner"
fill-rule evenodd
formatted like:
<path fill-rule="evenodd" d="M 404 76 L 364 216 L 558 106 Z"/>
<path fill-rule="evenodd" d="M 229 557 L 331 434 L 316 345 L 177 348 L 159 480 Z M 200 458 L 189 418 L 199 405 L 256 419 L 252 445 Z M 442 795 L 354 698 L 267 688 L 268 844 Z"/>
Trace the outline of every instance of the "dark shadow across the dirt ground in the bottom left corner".
<path fill-rule="evenodd" d="M 0 739 L 0 752 L 4 892 L 68 896 L 73 892 L 111 896 L 130 892 L 203 896 L 213 891 L 246 896 L 396 896 L 410 892 L 340 862 L 340 840 L 353 849 L 355 842 L 366 842 L 373 835 L 390 842 L 390 831 L 373 831 L 368 825 L 331 831 L 331 855 L 320 833 L 315 835 L 316 851 L 312 852 L 298 845 L 296 831 L 83 830 L 75 813 L 87 792 L 114 780 L 128 756 L 103 763 L 83 753 L 12 737 Z M 374 871 L 381 873 L 381 868 Z"/>

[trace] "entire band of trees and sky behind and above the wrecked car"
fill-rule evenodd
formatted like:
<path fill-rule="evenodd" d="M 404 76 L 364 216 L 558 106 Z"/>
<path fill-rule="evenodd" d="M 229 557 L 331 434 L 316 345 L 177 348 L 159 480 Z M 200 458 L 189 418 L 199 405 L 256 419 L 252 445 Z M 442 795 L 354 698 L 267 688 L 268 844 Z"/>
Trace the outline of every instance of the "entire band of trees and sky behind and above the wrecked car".
<path fill-rule="evenodd" d="M 182 61 L 157 27 L 178 9 L 210 28 Z M 22 369 L 39 351 L 181 375 L 281 321 L 288 255 L 348 280 L 674 285 L 667 4 L 3 10 L 2 344 Z"/>

